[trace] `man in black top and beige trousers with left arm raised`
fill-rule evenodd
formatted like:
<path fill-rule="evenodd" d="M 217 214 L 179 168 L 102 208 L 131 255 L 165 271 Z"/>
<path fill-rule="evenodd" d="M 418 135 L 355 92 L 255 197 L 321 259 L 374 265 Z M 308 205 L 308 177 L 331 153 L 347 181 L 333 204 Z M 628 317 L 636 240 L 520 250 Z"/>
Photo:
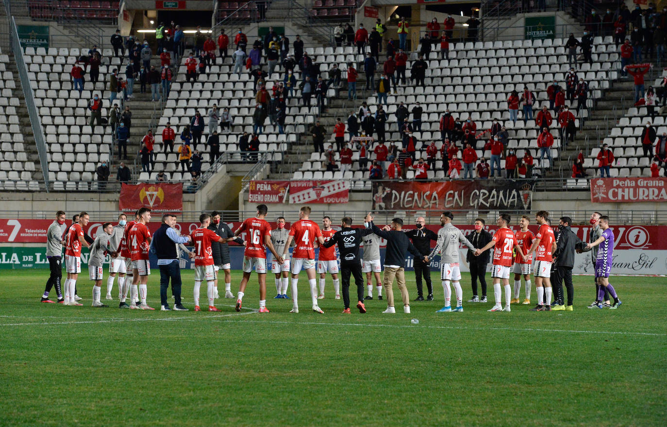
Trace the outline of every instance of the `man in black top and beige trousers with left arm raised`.
<path fill-rule="evenodd" d="M 387 310 L 383 313 L 396 313 L 394 308 L 394 291 L 392 285 L 394 278 L 398 284 L 398 289 L 401 291 L 401 298 L 403 300 L 403 312 L 410 313 L 410 294 L 406 288 L 406 255 L 408 251 L 414 255 L 415 258 L 424 258 L 422 254 L 410 243 L 410 238 L 402 232 L 403 220 L 401 218 L 394 218 L 392 226 L 384 226 L 382 230 L 373 224 L 373 217 L 371 214 L 366 216 L 368 228 L 373 230 L 373 233 L 380 236 L 387 241 L 387 252 L 384 256 L 384 278 L 383 287 L 387 298 Z"/>

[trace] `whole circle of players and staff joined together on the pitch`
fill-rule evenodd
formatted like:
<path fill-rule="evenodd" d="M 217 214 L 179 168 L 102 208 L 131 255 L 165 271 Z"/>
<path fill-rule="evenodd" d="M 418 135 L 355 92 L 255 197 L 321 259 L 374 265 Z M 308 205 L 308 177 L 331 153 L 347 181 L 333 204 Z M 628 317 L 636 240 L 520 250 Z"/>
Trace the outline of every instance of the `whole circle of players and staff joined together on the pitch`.
<path fill-rule="evenodd" d="M 76 294 L 76 284 L 78 276 L 81 273 L 81 249 L 83 246 L 89 248 L 89 279 L 94 282 L 93 286 L 93 307 L 107 307 L 101 302 L 101 284 L 103 282 L 103 262 L 105 256 L 109 254 L 111 261 L 109 263 L 109 278 L 107 278 L 107 300 L 113 300 L 111 290 L 113 281 L 118 276 L 119 290 L 119 308 L 155 310 L 148 306 L 147 281 L 151 274 L 149 263 L 149 252 L 157 255 L 158 266 L 161 266 L 161 310 L 171 310 L 167 304 L 166 290 L 171 278 L 172 294 L 175 298 L 174 310 L 187 310 L 181 304 L 180 292 L 180 272 L 178 268 L 169 270 L 170 266 L 179 265 L 179 246 L 187 252 L 190 258 L 194 258 L 195 263 L 195 284 L 193 289 L 193 298 L 195 311 L 200 311 L 199 289 L 202 282 L 207 283 L 208 310 L 217 312 L 215 308 L 215 298 L 219 298 L 217 292 L 217 274 L 223 270 L 225 274 L 225 298 L 235 298 L 231 293 L 231 276 L 229 264 L 229 249 L 227 243 L 231 241 L 238 242 L 245 246 L 243 253 L 243 278 L 239 286 L 239 292 L 236 297 L 235 310 L 241 311 L 245 288 L 251 278 L 251 272 L 254 268 L 259 282 L 259 312 L 267 313 L 266 307 L 266 274 L 267 274 L 267 250 L 273 255 L 271 263 L 271 273 L 275 274 L 276 299 L 287 299 L 287 286 L 291 286 L 291 299 L 293 302 L 291 313 L 299 312 L 297 299 L 297 284 L 301 270 L 305 270 L 307 276 L 310 296 L 311 309 L 313 312 L 323 313 L 317 304 L 318 299 L 324 298 L 325 277 L 331 274 L 333 279 L 333 288 L 336 300 L 341 296 L 344 300 L 344 313 L 350 313 L 350 278 L 354 278 L 357 286 L 356 307 L 360 313 L 366 313 L 364 301 L 372 299 L 372 276 L 376 279 L 377 298 L 382 300 L 382 292 L 385 292 L 387 300 L 387 309 L 384 313 L 396 313 L 394 308 L 394 294 L 392 284 L 396 280 L 400 289 L 404 312 L 410 313 L 410 297 L 405 284 L 405 258 L 407 252 L 411 252 L 416 260 L 416 266 L 430 263 L 434 257 L 440 255 L 440 279 L 444 290 L 445 305 L 438 312 L 462 312 L 463 311 L 463 291 L 460 285 L 461 272 L 459 262 L 459 246 L 464 244 L 470 249 L 472 256 L 480 256 L 484 252 L 493 248 L 492 279 L 494 285 L 495 304 L 488 310 L 489 312 L 510 312 L 510 304 L 520 302 L 520 278 L 523 276 L 526 282 L 526 298 L 522 304 L 530 304 L 530 274 L 534 274 L 535 286 L 538 294 L 537 305 L 531 310 L 550 311 L 550 310 L 572 310 L 572 280 L 570 274 L 570 283 L 566 278 L 566 287 L 568 290 L 568 303 L 564 300 L 555 301 L 552 307 L 552 266 L 555 256 L 568 256 L 565 251 L 574 248 L 572 245 L 564 244 L 565 238 L 558 244 L 558 238 L 550 226 L 548 212 L 538 211 L 535 220 L 539 225 L 537 234 L 532 234 L 528 230 L 530 218 L 522 216 L 520 218 L 520 231 L 516 234 L 508 227 L 511 218 L 508 214 L 500 214 L 496 224 L 496 230 L 490 242 L 481 248 L 476 248 L 473 242 L 474 238 L 470 235 L 466 238 L 462 232 L 454 227 L 452 220 L 454 215 L 446 211 L 440 216 L 442 228 L 437 236 L 427 230 L 424 226 L 424 218 L 418 218 L 418 229 L 403 232 L 403 221 L 400 218 L 394 218 L 392 224 L 379 228 L 374 224 L 372 214 L 364 218 L 364 227 L 353 228 L 352 218 L 346 217 L 341 220 L 341 230 L 331 228 L 331 218 L 325 216 L 322 220 L 323 228 L 309 219 L 311 209 L 307 206 L 299 209 L 299 220 L 295 221 L 289 230 L 285 228 L 285 218 L 277 218 L 277 228 L 271 230 L 271 226 L 265 220 L 267 215 L 267 206 L 257 206 L 257 215 L 255 218 L 248 218 L 233 233 L 226 224 L 220 222 L 220 216 L 213 212 L 213 217 L 208 214 L 201 214 L 199 217 L 199 227 L 189 234 L 189 236 L 180 236 L 175 228 L 176 218 L 173 215 L 165 214 L 162 216 L 161 227 L 151 236 L 147 224 L 151 221 L 151 210 L 141 208 L 135 212 L 135 219 L 127 221 L 127 216 L 121 214 L 118 224 L 113 226 L 111 223 L 105 223 L 102 231 L 92 240 L 84 234 L 83 228 L 89 222 L 89 215 L 85 212 L 79 214 L 78 220 L 61 234 L 61 226 L 65 224 L 65 212 L 58 211 L 56 220 L 49 226 L 47 231 L 47 258 L 51 266 L 51 276 L 47 282 L 45 292 L 42 296 L 42 302 L 53 302 L 49 300 L 49 292 L 53 286 L 58 294 L 58 302 L 65 306 L 81 306 L 78 301 L 81 300 Z M 213 224 L 211 224 L 213 220 Z M 563 230 L 570 226 L 570 218 L 561 218 L 558 230 Z M 612 254 L 614 248 L 614 234 L 609 228 L 609 218 L 602 216 L 598 212 L 591 215 L 590 223 L 593 226 L 590 243 L 583 244 L 573 234 L 576 240 L 577 252 L 586 252 L 596 246 L 597 252 L 593 253 L 595 262 L 595 282 L 596 282 L 596 300 L 589 308 L 608 307 L 615 309 L 621 302 L 609 283 L 609 275 L 612 267 Z M 476 220 L 476 232 L 479 233 L 484 226 L 484 221 Z M 419 230 L 422 230 L 420 235 Z M 222 231 L 222 233 L 221 233 Z M 431 236 L 428 235 L 431 234 Z M 222 236 L 221 236 L 222 234 Z M 245 241 L 239 236 L 245 236 Z M 558 233 L 560 236 L 560 232 Z M 409 236 L 409 237 L 408 237 Z M 430 240 L 436 240 L 436 246 L 430 254 L 423 255 L 413 244 L 417 244 L 417 237 L 426 238 L 427 251 L 430 250 Z M 380 239 L 387 240 L 387 252 L 384 266 L 384 282 L 380 285 Z M 422 240 L 422 245 L 424 240 Z M 223 264 L 215 264 L 212 248 L 215 244 L 224 246 L 226 259 L 219 257 Z M 194 247 L 193 252 L 184 246 L 190 244 Z M 360 246 L 364 244 L 364 254 L 360 257 Z M 334 246 L 338 245 L 340 253 L 340 267 L 337 261 Z M 65 247 L 65 270 L 67 279 L 61 290 L 61 246 Z M 420 245 L 418 245 L 420 246 Z M 291 258 L 289 249 L 293 247 Z M 319 248 L 319 258 L 315 261 L 315 248 Z M 572 249 L 574 250 L 574 249 Z M 574 254 L 571 254 L 574 258 Z M 534 272 L 532 272 L 533 256 L 535 257 Z M 424 264 L 422 264 L 424 263 Z M 165 270 L 163 270 L 163 268 Z M 571 267 L 570 267 L 571 270 Z M 367 295 L 364 296 L 364 277 L 366 274 Z M 510 274 L 514 274 L 514 294 L 510 288 Z M 338 275 L 341 275 L 342 288 Z M 419 275 L 419 272 L 417 272 Z M 482 273 L 484 274 L 484 273 Z M 171 276 L 171 277 L 170 277 Z M 319 276 L 319 290 L 317 279 Z M 290 280 L 291 279 L 291 280 Z M 430 282 L 429 286 L 430 286 Z M 501 285 L 502 283 L 502 285 Z M 451 286 L 454 286 L 456 294 L 456 304 L 451 303 Z M 474 290 L 476 286 L 474 285 Z M 418 290 L 421 294 L 421 281 L 418 280 Z M 504 290 L 504 304 L 502 300 L 502 290 Z M 342 291 L 342 292 L 341 292 Z M 432 300 L 431 289 L 429 289 L 428 299 Z M 475 292 L 475 291 L 474 291 Z M 561 291 L 562 293 L 562 288 Z M 129 294 L 129 295 L 128 295 Z M 610 304 L 610 295 L 614 303 Z M 129 304 L 126 300 L 129 298 Z M 480 301 L 478 296 L 474 296 L 468 302 Z M 486 296 L 482 302 L 486 302 Z"/>

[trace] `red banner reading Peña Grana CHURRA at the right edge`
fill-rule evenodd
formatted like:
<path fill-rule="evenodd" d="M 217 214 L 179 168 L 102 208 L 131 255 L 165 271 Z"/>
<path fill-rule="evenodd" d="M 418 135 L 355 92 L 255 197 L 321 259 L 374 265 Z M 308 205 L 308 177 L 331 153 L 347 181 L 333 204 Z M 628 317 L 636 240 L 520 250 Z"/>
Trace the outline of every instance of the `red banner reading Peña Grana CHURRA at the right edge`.
<path fill-rule="evenodd" d="M 667 201 L 667 178 L 593 178 L 590 201 Z"/>

